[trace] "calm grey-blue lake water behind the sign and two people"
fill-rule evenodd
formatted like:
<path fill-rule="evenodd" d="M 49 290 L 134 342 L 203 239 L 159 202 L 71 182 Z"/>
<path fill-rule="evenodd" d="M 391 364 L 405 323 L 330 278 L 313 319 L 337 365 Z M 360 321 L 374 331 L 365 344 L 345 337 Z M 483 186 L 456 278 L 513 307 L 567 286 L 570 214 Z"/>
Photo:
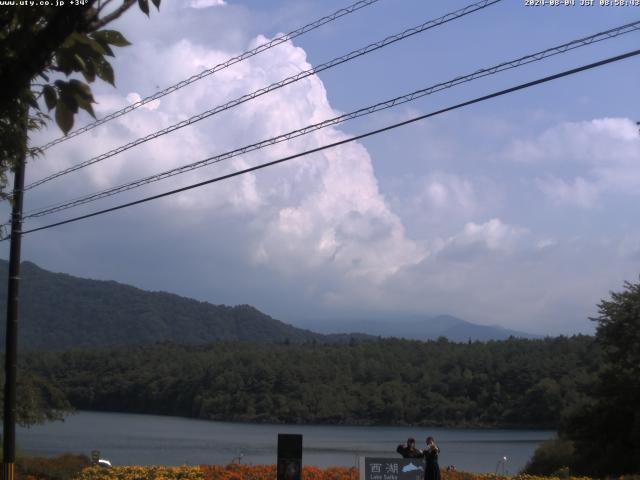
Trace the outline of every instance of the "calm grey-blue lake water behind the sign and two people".
<path fill-rule="evenodd" d="M 18 428 L 20 449 L 40 456 L 100 450 L 114 465 L 226 464 L 242 454 L 242 463 L 276 462 L 278 433 L 303 435 L 306 465 L 357 466 L 358 456 L 398 457 L 396 446 L 428 435 L 442 450 L 440 466 L 458 470 L 517 473 L 535 448 L 554 436 L 547 430 L 469 430 L 326 425 L 255 425 L 179 417 L 79 412 L 64 422 Z"/>

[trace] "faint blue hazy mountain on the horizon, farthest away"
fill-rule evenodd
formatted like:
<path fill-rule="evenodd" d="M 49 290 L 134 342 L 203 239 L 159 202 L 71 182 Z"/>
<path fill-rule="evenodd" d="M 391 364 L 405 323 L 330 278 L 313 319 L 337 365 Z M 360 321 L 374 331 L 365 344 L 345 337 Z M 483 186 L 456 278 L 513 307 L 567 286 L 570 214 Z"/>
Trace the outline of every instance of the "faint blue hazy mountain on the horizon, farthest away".
<path fill-rule="evenodd" d="M 478 325 L 451 315 L 398 316 L 385 318 L 353 318 L 308 321 L 306 328 L 318 332 L 359 332 L 381 337 L 411 340 L 436 340 L 445 337 L 452 342 L 506 340 L 509 337 L 542 338 L 540 335 L 509 330 L 496 325 Z"/>

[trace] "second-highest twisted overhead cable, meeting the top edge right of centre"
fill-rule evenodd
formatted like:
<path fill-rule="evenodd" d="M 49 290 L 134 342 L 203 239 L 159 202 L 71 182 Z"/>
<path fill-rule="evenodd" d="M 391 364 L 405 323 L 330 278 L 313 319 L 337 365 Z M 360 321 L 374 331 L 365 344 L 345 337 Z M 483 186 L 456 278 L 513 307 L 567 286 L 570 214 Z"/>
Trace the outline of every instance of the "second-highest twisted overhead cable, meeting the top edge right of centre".
<path fill-rule="evenodd" d="M 471 13 L 474 13 L 478 10 L 484 9 L 490 5 L 493 5 L 495 3 L 501 2 L 502 0 L 482 0 L 480 2 L 476 2 L 473 3 L 471 5 L 468 5 L 464 8 L 461 8 L 459 10 L 456 10 L 454 12 L 451 13 L 447 13 L 446 15 L 443 15 L 442 17 L 439 17 L 435 20 L 429 20 L 428 22 L 425 22 L 421 25 L 409 28 L 401 33 L 395 34 L 395 35 L 390 35 L 386 38 L 384 38 L 383 40 L 380 40 L 378 42 L 374 42 L 371 43 L 369 45 L 367 45 L 366 47 L 362 47 L 359 48 L 358 50 L 354 50 L 350 53 L 347 53 L 346 55 L 343 55 L 341 57 L 338 58 L 334 58 L 333 60 L 330 60 L 329 62 L 323 63 L 321 65 L 318 65 L 317 67 L 313 67 L 310 68 L 309 70 L 305 70 L 303 72 L 297 73 L 296 75 L 292 75 L 290 77 L 285 78 L 284 80 L 280 80 L 279 82 L 275 82 L 272 83 L 271 85 L 261 88 L 259 90 L 256 90 L 252 93 L 243 95 L 239 98 L 236 98 L 235 100 L 231 100 L 230 102 L 227 102 L 223 105 L 219 105 L 217 107 L 214 107 L 210 110 L 207 110 L 203 113 L 200 113 L 199 115 L 195 115 L 191 118 L 188 118 L 186 120 L 183 120 L 179 123 L 176 123 L 174 125 L 171 125 L 169 127 L 166 127 L 162 130 L 159 130 L 155 133 L 151 133 L 145 137 L 140 137 L 132 142 L 127 143 L 126 145 L 122 145 L 118 148 L 115 148 L 113 150 L 110 150 L 109 152 L 103 153 L 102 155 L 98 155 L 96 157 L 93 157 L 89 160 L 85 160 L 84 162 L 80 162 L 76 165 L 73 165 L 69 168 L 66 168 L 64 170 L 60 170 L 56 173 L 53 173 L 45 178 L 42 178 L 40 180 L 37 180 L 35 182 L 30 183 L 29 185 L 27 185 L 24 189 L 25 190 L 30 190 L 34 187 L 37 187 L 39 185 L 42 185 L 43 183 L 46 183 L 48 181 L 51 181 L 55 178 L 58 178 L 62 175 L 66 175 L 68 173 L 74 172 L 76 170 L 80 170 L 81 168 L 87 167 L 89 165 L 92 165 L 94 163 L 100 162 L 102 160 L 106 160 L 107 158 L 113 157 L 114 155 L 117 155 L 119 153 L 122 153 L 126 150 L 129 150 L 130 148 L 133 148 L 137 145 L 140 145 L 142 143 L 148 142 L 149 140 L 154 140 L 158 137 L 161 137 L 163 135 L 166 135 L 168 133 L 174 132 L 178 129 L 181 129 L 183 127 L 186 127 L 188 125 L 192 125 L 196 122 L 199 122 L 200 120 L 204 120 L 205 118 L 209 118 L 212 115 L 215 115 L 217 113 L 220 113 L 222 111 L 225 110 L 229 110 L 233 107 L 237 107 L 238 105 L 241 105 L 245 102 L 248 102 L 249 100 L 253 100 L 261 95 L 264 95 L 266 93 L 269 93 L 271 91 L 277 90 L 279 88 L 282 88 L 286 85 L 295 83 L 299 80 L 302 80 L 303 78 L 307 78 L 310 77 L 312 75 L 316 75 L 317 73 L 324 71 L 324 70 L 328 70 L 332 67 L 335 67 L 336 65 L 340 65 L 342 63 L 348 62 L 350 60 L 353 60 L 354 58 L 366 55 L 368 53 L 371 53 L 373 51 L 379 50 L 381 48 L 386 47 L 387 45 L 390 45 L 392 43 L 398 42 L 400 40 L 404 40 L 405 38 L 411 37 L 413 35 L 416 35 L 417 33 L 420 32 L 424 32 L 425 30 L 429 30 L 431 28 L 440 26 L 442 24 L 448 23 L 452 20 L 456 20 L 458 18 L 464 17 L 466 15 L 469 15 Z"/>

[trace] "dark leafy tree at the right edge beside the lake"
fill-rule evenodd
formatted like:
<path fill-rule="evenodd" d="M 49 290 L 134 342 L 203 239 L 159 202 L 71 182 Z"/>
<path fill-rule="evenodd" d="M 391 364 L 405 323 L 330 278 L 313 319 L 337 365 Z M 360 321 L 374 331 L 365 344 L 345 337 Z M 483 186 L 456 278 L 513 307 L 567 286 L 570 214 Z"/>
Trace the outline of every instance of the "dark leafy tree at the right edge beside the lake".
<path fill-rule="evenodd" d="M 561 434 L 575 444 L 577 473 L 640 473 L 640 284 L 625 283 L 599 313 L 603 365 L 591 401 L 564 419 Z"/>

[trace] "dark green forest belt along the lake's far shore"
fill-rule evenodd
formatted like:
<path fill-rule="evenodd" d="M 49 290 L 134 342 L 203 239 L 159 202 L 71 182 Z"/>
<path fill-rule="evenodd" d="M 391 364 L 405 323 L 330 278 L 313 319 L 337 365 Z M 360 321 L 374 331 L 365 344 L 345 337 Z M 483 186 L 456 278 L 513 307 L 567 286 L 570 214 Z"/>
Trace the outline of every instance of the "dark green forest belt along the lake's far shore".
<path fill-rule="evenodd" d="M 583 399 L 592 337 L 487 343 L 156 344 L 32 354 L 79 409 L 216 420 L 555 428 Z"/>

